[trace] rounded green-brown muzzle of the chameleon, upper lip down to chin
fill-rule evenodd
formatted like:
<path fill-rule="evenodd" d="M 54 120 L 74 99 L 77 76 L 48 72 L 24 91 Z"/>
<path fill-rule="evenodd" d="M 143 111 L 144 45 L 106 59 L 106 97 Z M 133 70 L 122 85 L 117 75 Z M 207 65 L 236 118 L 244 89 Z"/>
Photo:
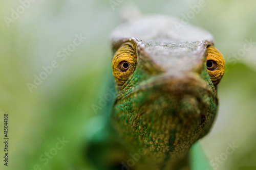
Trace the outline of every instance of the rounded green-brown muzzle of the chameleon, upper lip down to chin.
<path fill-rule="evenodd" d="M 196 72 L 154 76 L 117 101 L 132 107 L 115 119 L 124 115 L 126 128 L 149 152 L 186 151 L 209 131 L 217 111 L 214 92 Z"/>

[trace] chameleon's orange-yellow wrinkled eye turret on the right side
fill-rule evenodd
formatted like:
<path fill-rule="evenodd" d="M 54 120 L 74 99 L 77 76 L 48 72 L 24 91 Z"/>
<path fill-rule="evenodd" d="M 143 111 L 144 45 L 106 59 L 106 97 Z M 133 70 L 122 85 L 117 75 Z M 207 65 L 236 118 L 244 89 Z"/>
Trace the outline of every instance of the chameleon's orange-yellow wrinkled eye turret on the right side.
<path fill-rule="evenodd" d="M 216 86 L 221 81 L 225 71 L 225 60 L 222 54 L 214 47 L 207 47 L 207 62 L 206 67 L 210 76 L 211 82 Z"/>

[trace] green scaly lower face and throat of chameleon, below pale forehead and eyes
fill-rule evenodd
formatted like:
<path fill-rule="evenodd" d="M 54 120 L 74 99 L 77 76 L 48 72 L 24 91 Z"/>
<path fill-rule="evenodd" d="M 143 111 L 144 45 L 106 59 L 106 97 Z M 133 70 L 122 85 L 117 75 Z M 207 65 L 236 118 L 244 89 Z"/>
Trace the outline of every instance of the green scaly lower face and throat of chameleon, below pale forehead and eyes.
<path fill-rule="evenodd" d="M 148 74 L 147 62 L 138 63 L 130 79 L 117 88 L 111 124 L 131 153 L 143 149 L 142 166 L 176 168 L 212 125 L 217 113 L 216 87 L 206 66 L 191 78 L 173 78 L 162 72 Z"/>

